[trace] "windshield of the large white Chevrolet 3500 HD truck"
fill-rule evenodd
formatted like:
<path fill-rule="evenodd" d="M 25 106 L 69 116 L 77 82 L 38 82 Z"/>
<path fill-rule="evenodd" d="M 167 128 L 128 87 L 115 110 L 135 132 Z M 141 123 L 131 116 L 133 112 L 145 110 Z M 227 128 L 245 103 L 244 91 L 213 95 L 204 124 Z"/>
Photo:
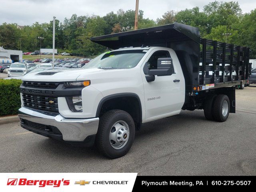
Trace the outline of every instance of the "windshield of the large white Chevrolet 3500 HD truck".
<path fill-rule="evenodd" d="M 146 50 L 106 52 L 90 61 L 86 66 L 83 66 L 83 68 L 133 68 L 140 62 L 145 53 Z"/>

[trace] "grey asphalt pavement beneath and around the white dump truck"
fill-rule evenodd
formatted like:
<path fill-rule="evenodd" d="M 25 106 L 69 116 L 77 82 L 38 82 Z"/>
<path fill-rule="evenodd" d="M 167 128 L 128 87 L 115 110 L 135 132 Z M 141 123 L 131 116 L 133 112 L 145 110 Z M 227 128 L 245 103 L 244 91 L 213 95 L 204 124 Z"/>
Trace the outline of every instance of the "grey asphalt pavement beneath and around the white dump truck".
<path fill-rule="evenodd" d="M 2 74 L 1 74 L 2 76 Z M 138 172 L 139 175 L 255 175 L 256 86 L 236 90 L 236 114 L 223 123 L 202 110 L 143 124 L 126 156 L 70 146 L 0 125 L 0 172 Z"/>

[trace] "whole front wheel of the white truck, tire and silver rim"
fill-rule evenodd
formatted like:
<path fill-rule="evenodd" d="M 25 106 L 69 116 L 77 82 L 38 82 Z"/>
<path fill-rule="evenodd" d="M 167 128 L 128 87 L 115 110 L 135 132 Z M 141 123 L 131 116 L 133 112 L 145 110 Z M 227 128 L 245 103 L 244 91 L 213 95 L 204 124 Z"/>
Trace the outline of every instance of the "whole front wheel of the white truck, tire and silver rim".
<path fill-rule="evenodd" d="M 104 156 L 119 158 L 131 148 L 135 125 L 130 114 L 123 110 L 110 110 L 100 117 L 96 146 Z"/>

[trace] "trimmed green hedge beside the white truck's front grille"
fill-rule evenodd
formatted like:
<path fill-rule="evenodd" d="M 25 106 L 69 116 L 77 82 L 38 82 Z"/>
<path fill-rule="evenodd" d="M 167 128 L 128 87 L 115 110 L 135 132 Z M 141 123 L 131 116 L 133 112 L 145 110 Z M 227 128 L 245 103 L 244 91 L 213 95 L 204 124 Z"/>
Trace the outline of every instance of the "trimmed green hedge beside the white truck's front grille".
<path fill-rule="evenodd" d="M 18 113 L 21 83 L 18 79 L 0 79 L 0 116 Z"/>

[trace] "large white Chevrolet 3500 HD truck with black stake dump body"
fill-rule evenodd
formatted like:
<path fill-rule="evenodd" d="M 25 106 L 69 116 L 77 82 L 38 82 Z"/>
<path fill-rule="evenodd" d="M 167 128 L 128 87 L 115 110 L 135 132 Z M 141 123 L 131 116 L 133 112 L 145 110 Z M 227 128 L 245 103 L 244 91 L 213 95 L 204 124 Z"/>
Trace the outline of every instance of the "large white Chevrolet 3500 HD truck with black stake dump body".
<path fill-rule="evenodd" d="M 105 156 L 118 158 L 141 124 L 182 109 L 203 109 L 206 119 L 225 121 L 235 112 L 234 86 L 248 77 L 248 48 L 201 39 L 197 28 L 183 24 L 91 40 L 114 50 L 81 69 L 22 79 L 23 128 L 71 144 L 95 143 Z"/>

